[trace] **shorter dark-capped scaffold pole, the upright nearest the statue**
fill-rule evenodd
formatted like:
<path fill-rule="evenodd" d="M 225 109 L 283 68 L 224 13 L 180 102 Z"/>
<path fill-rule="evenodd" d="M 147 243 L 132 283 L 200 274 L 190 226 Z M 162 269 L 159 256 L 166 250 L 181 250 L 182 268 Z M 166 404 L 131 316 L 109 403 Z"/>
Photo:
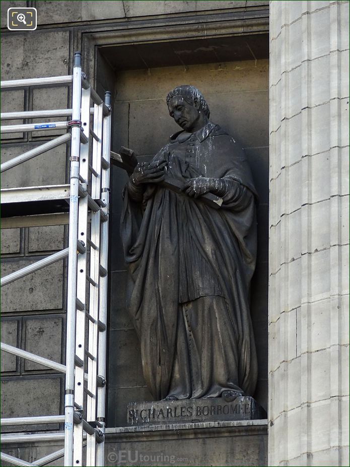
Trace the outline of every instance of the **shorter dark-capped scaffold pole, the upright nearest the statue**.
<path fill-rule="evenodd" d="M 105 93 L 105 105 L 110 108 L 111 93 Z M 102 140 L 102 156 L 109 162 L 110 158 L 110 141 L 111 141 L 111 113 L 103 119 L 103 140 Z M 102 170 L 101 182 L 101 197 L 106 205 L 103 211 L 109 215 L 109 168 Z M 107 270 L 108 261 L 108 220 L 101 225 L 101 251 L 100 263 Z M 107 280 L 108 277 L 100 278 L 100 306 L 99 320 L 107 325 Z M 99 332 L 98 338 L 98 374 L 106 377 L 106 335 L 107 330 Z M 106 386 L 97 388 L 97 421 L 102 424 L 101 431 L 105 433 L 105 402 L 106 402 Z M 104 464 L 104 442 L 96 445 L 96 465 Z"/>

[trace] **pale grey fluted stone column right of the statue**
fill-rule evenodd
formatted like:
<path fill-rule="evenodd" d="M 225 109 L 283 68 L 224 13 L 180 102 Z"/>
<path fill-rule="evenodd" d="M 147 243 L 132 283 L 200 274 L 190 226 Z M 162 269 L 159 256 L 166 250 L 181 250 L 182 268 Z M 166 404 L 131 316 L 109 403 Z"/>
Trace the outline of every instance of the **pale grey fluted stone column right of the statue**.
<path fill-rule="evenodd" d="M 273 466 L 348 465 L 348 28 L 348 2 L 270 2 Z"/>

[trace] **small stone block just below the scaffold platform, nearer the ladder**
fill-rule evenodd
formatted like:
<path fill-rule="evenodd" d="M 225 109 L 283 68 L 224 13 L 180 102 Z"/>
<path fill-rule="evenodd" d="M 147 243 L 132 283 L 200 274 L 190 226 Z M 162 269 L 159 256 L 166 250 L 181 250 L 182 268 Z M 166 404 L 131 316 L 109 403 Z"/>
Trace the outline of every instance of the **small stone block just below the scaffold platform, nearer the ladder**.
<path fill-rule="evenodd" d="M 63 249 L 64 226 L 52 225 L 30 227 L 28 232 L 28 251 L 54 251 Z"/>

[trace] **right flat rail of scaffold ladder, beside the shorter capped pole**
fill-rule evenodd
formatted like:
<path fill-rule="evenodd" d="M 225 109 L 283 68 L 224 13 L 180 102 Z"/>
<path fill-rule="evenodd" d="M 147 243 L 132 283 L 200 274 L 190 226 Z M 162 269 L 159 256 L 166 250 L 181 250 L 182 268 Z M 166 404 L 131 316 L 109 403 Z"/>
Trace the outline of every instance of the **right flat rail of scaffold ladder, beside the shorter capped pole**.
<path fill-rule="evenodd" d="M 103 124 L 103 102 L 100 105 L 95 104 L 94 112 L 94 132 L 99 141 L 93 140 L 92 166 L 97 176 L 92 173 L 91 196 L 95 199 L 101 197 L 101 156 L 102 156 L 102 124 Z M 90 250 L 90 278 L 96 285 L 90 285 L 90 303 L 89 311 L 93 321 L 89 321 L 89 352 L 97 357 L 98 346 L 98 307 L 99 307 L 99 265 L 100 265 L 100 210 L 91 213 L 91 241 L 97 245 L 97 249 Z M 94 397 L 88 397 L 87 421 L 96 420 L 96 394 L 97 394 L 97 358 L 88 361 L 88 389 L 94 394 Z M 96 435 L 87 435 L 86 449 L 87 465 L 96 465 Z"/>

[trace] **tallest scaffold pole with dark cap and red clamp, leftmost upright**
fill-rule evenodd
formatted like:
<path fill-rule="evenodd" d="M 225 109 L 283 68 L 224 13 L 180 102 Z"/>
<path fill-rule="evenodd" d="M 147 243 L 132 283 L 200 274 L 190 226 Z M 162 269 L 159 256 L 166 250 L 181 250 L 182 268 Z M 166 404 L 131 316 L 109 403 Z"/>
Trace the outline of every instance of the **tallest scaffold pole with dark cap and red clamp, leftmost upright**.
<path fill-rule="evenodd" d="M 81 53 L 74 54 L 72 119 L 81 116 Z M 71 142 L 71 195 L 69 209 L 69 255 L 67 290 L 67 337 L 66 376 L 64 395 L 64 465 L 73 465 L 73 416 L 74 416 L 74 368 L 75 331 L 77 309 L 77 231 L 78 231 L 78 187 L 79 187 L 80 127 L 72 128 Z"/>

